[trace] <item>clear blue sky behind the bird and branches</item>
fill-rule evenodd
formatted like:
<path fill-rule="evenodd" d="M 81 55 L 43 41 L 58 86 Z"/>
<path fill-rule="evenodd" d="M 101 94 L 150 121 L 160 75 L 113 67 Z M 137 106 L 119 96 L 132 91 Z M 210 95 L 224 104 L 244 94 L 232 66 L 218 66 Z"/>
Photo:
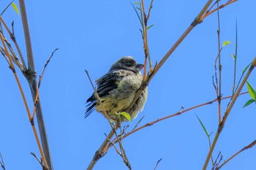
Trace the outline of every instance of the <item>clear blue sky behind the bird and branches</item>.
<path fill-rule="evenodd" d="M 9 1 L 0 3 L 2 10 Z M 148 30 L 153 63 L 161 60 L 205 3 L 199 0 L 154 1 L 149 20 L 154 26 Z M 221 42 L 231 41 L 222 50 L 223 96 L 232 93 L 231 54 L 235 53 L 236 20 L 238 77 L 255 58 L 255 5 L 255 1 L 238 1 L 220 10 Z M 143 63 L 140 23 L 129 1 L 26 1 L 26 8 L 38 74 L 53 50 L 59 47 L 46 69 L 40 89 L 54 168 L 86 169 L 110 127 L 97 112 L 83 118 L 85 101 L 93 91 L 84 69 L 89 71 L 92 80 L 96 80 L 124 55 L 132 55 Z M 25 54 L 20 16 L 10 8 L 3 18 L 9 26 L 15 20 L 15 35 Z M 186 109 L 215 99 L 212 75 L 217 50 L 217 13 L 214 13 L 184 39 L 151 80 L 146 106 L 138 118 L 129 123 L 130 127 L 143 115 L 145 118 L 140 125 L 178 112 L 181 107 Z M 0 69 L 0 152 L 5 166 L 7 169 L 40 169 L 39 163 L 29 154 L 34 152 L 39 156 L 39 151 L 18 86 L 4 58 L 1 58 Z M 27 82 L 20 72 L 18 75 L 32 109 Z M 254 71 L 249 77 L 254 87 L 255 78 Z M 252 104 L 243 109 L 247 100 L 248 94 L 238 98 L 217 142 L 214 158 L 220 151 L 223 160 L 227 160 L 255 140 L 256 106 Z M 222 101 L 222 115 L 228 101 Z M 217 103 L 193 109 L 124 139 L 124 149 L 132 168 L 154 169 L 162 158 L 157 169 L 202 169 L 208 139 L 196 115 L 212 132 L 213 139 L 218 123 Z M 255 153 L 255 147 L 246 150 L 222 169 L 256 169 Z M 111 148 L 94 169 L 127 167 Z"/>

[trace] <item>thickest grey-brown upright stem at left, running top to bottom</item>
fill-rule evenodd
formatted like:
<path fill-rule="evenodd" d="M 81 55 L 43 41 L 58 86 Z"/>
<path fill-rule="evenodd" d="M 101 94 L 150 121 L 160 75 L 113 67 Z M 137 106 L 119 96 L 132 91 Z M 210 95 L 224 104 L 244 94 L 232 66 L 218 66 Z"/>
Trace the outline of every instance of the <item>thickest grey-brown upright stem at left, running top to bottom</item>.
<path fill-rule="evenodd" d="M 31 94 L 34 98 L 37 95 L 37 73 L 35 70 L 34 66 L 34 58 L 33 58 L 33 53 L 32 53 L 32 46 L 31 46 L 31 39 L 30 39 L 30 34 L 29 34 L 29 22 L 27 19 L 26 15 L 26 6 L 25 6 L 25 1 L 24 0 L 19 0 L 20 4 L 20 15 L 23 23 L 23 31 L 25 35 L 25 41 L 26 41 L 26 53 L 27 53 L 27 58 L 28 58 L 28 70 L 26 72 L 26 79 L 29 82 L 29 87 L 31 90 Z M 46 167 L 48 166 L 49 170 L 53 170 L 53 163 L 50 158 L 50 148 L 48 145 L 48 138 L 46 134 L 46 129 L 45 129 L 45 122 L 43 119 L 43 114 L 42 114 L 42 107 L 41 103 L 38 98 L 37 102 L 37 124 L 39 128 L 39 134 L 42 142 L 42 150 L 45 153 L 45 159 L 48 165 L 45 165 Z"/>

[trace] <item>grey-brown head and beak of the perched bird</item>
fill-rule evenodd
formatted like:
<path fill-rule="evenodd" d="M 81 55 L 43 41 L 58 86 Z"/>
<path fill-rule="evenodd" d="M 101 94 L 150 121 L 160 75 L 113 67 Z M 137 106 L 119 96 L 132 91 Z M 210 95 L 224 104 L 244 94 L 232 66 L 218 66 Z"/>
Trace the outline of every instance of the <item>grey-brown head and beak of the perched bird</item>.
<path fill-rule="evenodd" d="M 131 56 L 125 56 L 123 58 L 120 58 L 116 63 L 114 63 L 110 67 L 110 71 L 115 69 L 125 69 L 129 70 L 135 73 L 140 72 L 141 69 L 143 69 L 144 65 L 140 63 L 136 63 L 135 59 Z"/>

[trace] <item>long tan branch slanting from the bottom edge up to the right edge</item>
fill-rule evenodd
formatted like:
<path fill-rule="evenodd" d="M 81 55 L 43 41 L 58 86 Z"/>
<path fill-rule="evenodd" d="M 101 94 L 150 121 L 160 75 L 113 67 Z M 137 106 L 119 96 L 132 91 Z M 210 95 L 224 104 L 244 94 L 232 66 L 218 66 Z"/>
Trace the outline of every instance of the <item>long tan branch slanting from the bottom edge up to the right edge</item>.
<path fill-rule="evenodd" d="M 206 158 L 206 161 L 203 165 L 203 170 L 206 170 L 207 166 L 208 166 L 208 161 L 210 160 L 211 158 L 211 154 L 212 152 L 214 151 L 214 147 L 215 147 L 215 144 L 217 143 L 217 140 L 219 139 L 219 135 L 221 134 L 222 132 L 222 129 L 226 123 L 226 120 L 227 120 L 227 117 L 228 115 L 230 114 L 231 112 L 231 109 L 233 108 L 233 105 L 235 104 L 236 102 L 236 98 L 238 98 L 239 96 L 239 93 L 241 92 L 241 89 L 244 87 L 244 84 L 246 82 L 246 80 L 248 79 L 249 75 L 252 73 L 252 70 L 255 68 L 256 66 L 256 57 L 255 59 L 252 61 L 252 65 L 250 66 L 248 72 L 246 73 L 246 76 L 244 77 L 244 80 L 243 82 L 241 82 L 241 85 L 239 86 L 238 90 L 236 91 L 235 95 L 233 95 L 233 99 L 232 101 L 230 102 L 230 105 L 227 107 L 227 110 L 225 112 L 225 115 L 222 119 L 222 122 L 219 123 L 219 127 L 218 127 L 218 131 L 217 131 L 217 134 L 214 136 L 214 141 L 212 142 L 211 144 L 211 149 L 209 150 L 208 152 L 208 155 L 207 155 L 207 158 Z"/>

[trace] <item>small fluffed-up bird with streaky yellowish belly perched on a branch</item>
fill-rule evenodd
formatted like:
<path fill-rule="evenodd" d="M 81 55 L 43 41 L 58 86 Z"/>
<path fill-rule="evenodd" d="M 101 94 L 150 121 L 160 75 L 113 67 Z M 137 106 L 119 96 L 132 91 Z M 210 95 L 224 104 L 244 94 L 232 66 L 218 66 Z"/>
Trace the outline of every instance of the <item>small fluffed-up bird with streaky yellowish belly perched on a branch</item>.
<path fill-rule="evenodd" d="M 148 88 L 143 90 L 133 107 L 127 111 L 127 107 L 132 103 L 135 93 L 140 88 L 143 77 L 140 70 L 143 64 L 136 63 L 131 56 L 125 56 L 110 67 L 107 74 L 96 80 L 97 93 L 111 120 L 118 120 L 116 113 L 127 112 L 131 119 L 138 116 L 143 110 L 146 98 L 148 96 Z M 86 101 L 88 107 L 85 117 L 89 116 L 95 109 L 104 115 L 102 107 L 99 105 L 94 93 Z M 122 117 L 122 121 L 127 121 L 126 117 Z"/>

